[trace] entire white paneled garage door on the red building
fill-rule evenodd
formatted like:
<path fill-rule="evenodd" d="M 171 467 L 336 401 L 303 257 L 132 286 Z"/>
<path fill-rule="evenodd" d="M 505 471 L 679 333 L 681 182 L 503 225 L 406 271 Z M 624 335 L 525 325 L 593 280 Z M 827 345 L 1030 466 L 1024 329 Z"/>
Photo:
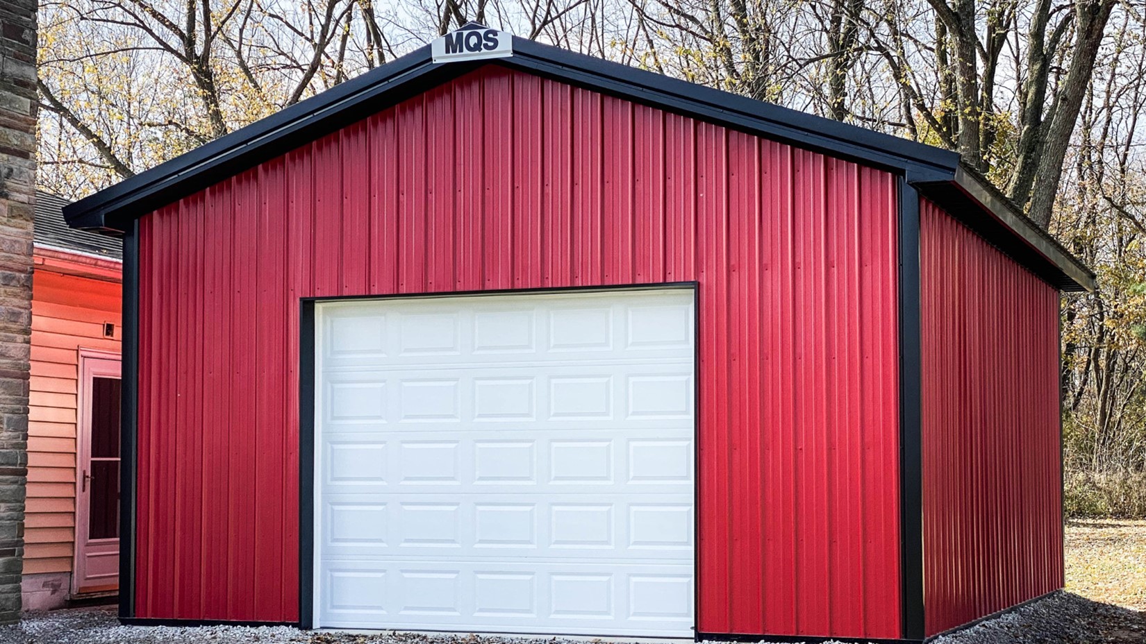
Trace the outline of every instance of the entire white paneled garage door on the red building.
<path fill-rule="evenodd" d="M 692 291 L 315 328 L 317 627 L 692 636 Z"/>

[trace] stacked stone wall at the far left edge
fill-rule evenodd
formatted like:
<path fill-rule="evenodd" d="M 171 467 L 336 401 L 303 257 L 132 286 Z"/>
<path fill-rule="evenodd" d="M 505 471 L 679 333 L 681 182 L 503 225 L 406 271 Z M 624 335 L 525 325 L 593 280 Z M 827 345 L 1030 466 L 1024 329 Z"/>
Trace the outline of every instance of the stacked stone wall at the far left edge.
<path fill-rule="evenodd" d="M 0 623 L 19 619 L 36 198 L 36 0 L 0 0 Z"/>

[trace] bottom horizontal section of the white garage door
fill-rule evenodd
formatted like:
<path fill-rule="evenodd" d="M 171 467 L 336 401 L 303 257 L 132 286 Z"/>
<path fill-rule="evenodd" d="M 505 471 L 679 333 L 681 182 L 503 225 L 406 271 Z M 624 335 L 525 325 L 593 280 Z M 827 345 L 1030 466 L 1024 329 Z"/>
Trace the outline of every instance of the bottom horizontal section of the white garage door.
<path fill-rule="evenodd" d="M 564 634 L 678 635 L 692 626 L 689 566 L 508 564 L 403 559 L 333 563 L 322 580 L 324 612 L 345 628 Z M 384 589 L 384 596 L 378 590 Z"/>

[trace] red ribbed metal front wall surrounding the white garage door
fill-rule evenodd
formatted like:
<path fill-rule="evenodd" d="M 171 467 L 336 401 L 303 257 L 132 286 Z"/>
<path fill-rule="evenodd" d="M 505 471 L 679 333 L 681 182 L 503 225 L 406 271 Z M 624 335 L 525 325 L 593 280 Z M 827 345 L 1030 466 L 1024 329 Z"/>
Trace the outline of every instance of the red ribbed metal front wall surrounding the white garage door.
<path fill-rule="evenodd" d="M 488 66 L 141 222 L 139 616 L 298 618 L 298 298 L 699 282 L 699 628 L 900 635 L 896 180 Z"/>

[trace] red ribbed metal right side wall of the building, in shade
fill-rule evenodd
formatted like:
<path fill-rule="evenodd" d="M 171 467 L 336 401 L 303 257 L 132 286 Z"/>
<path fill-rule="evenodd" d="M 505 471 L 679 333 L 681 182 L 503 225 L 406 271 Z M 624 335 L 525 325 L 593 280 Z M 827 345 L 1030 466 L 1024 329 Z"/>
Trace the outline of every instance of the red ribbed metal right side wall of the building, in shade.
<path fill-rule="evenodd" d="M 920 207 L 928 635 L 1062 587 L 1059 293 Z"/>

